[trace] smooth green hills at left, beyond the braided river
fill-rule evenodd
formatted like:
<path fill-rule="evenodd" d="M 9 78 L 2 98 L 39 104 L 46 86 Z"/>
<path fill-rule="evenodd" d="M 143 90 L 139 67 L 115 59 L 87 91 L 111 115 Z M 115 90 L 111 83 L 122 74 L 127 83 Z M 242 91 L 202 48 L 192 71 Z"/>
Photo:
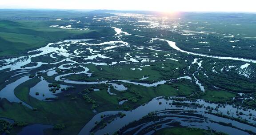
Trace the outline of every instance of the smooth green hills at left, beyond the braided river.
<path fill-rule="evenodd" d="M 115 33 L 110 28 L 70 30 L 49 27 L 54 24 L 54 20 L 0 20 L 0 56 L 22 56 L 29 50 L 60 40 L 96 38 Z"/>

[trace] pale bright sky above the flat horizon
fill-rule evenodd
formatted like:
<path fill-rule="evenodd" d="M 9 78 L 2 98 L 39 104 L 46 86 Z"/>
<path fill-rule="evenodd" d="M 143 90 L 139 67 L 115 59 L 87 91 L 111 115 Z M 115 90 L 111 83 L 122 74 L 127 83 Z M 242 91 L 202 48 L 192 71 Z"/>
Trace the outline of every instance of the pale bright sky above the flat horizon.
<path fill-rule="evenodd" d="M 0 0 L 0 8 L 256 12 L 256 0 Z"/>

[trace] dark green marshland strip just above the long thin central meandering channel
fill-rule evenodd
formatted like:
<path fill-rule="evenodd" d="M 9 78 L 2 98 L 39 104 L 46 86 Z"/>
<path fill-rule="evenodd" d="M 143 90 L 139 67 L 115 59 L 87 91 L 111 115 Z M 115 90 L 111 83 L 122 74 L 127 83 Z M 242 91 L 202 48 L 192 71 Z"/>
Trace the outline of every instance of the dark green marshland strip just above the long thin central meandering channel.
<path fill-rule="evenodd" d="M 164 68 L 161 68 L 163 66 Z M 100 80 L 113 80 L 113 79 L 129 79 L 129 80 L 139 80 L 143 76 L 147 76 L 148 79 L 145 81 L 155 82 L 157 80 L 163 79 L 175 79 L 180 77 L 179 71 L 182 71 L 184 68 L 184 63 L 179 63 L 173 60 L 166 60 L 164 62 L 158 62 L 152 64 L 148 67 L 139 67 L 134 64 L 125 64 L 120 66 L 95 66 L 93 64 L 87 64 L 86 67 L 90 69 L 90 72 L 93 73 L 92 77 L 87 77 L 87 75 L 70 75 L 66 77 L 67 79 L 72 80 L 86 80 L 86 81 L 95 81 Z M 141 68 L 131 70 L 130 68 Z M 176 67 L 181 69 L 175 70 Z"/>

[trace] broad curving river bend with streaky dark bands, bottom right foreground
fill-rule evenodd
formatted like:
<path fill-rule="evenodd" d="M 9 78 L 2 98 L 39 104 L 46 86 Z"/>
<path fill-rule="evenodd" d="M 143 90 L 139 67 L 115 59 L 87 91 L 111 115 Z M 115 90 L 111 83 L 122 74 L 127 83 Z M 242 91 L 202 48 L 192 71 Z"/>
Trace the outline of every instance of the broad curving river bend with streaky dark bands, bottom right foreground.
<path fill-rule="evenodd" d="M 160 104 L 161 102 L 161 104 Z M 176 101 L 178 102 L 178 101 Z M 97 115 L 95 115 L 85 126 L 84 128 L 80 131 L 79 135 L 88 135 L 89 132 L 91 131 L 91 129 L 95 126 L 95 122 L 96 121 L 100 121 L 100 115 L 115 115 L 118 112 L 122 112 L 124 114 L 126 114 L 126 116 L 124 116 L 123 118 L 116 118 L 114 121 L 112 121 L 111 123 L 108 123 L 106 127 L 104 127 L 103 129 L 99 129 L 98 131 L 95 132 L 95 135 L 103 135 L 105 133 L 109 133 L 109 134 L 113 134 L 115 131 L 118 131 L 119 129 L 121 129 L 122 127 L 124 127 L 125 125 L 128 125 L 129 123 L 133 122 L 134 120 L 139 120 L 141 119 L 143 116 L 147 115 L 149 112 L 153 112 L 153 111 L 159 111 L 158 114 L 159 116 L 164 116 L 166 118 L 164 119 L 171 119 L 171 120 L 167 120 L 167 122 L 165 123 L 163 120 L 161 120 L 163 127 L 170 127 L 168 126 L 168 122 L 172 123 L 174 121 L 178 121 L 180 122 L 181 126 L 185 126 L 185 127 L 197 127 L 197 128 L 202 128 L 202 129 L 208 129 L 208 127 L 210 127 L 213 130 L 216 131 L 222 131 L 231 135 L 234 135 L 234 133 L 239 133 L 239 135 L 248 135 L 247 132 L 244 132 L 243 130 L 251 130 L 253 132 L 256 132 L 256 128 L 252 127 L 250 125 L 244 124 L 244 123 L 240 123 L 237 121 L 232 121 L 230 119 L 226 119 L 226 118 L 222 118 L 222 117 L 218 117 L 216 115 L 211 115 L 211 114 L 207 114 L 204 113 L 206 110 L 206 108 L 209 107 L 213 107 L 216 108 L 218 107 L 218 104 L 215 103 L 207 103 L 204 100 L 200 100 L 198 99 L 196 101 L 196 103 L 199 103 L 200 105 L 202 105 L 203 107 L 176 107 L 175 105 L 172 105 L 173 100 L 165 100 L 162 99 L 160 97 L 154 98 L 152 99 L 152 101 L 150 101 L 149 103 L 145 104 L 144 106 L 140 106 L 137 107 L 136 109 L 132 110 L 132 111 L 105 111 L 105 112 L 101 112 Z M 182 103 L 192 103 L 190 101 L 182 101 Z M 170 113 L 170 110 L 176 110 L 176 111 L 180 111 L 180 113 Z M 236 110 L 237 108 L 232 107 L 232 105 L 225 105 L 225 107 L 219 107 L 218 110 L 212 110 L 213 113 L 221 113 L 223 115 L 228 115 L 237 118 L 238 116 L 236 115 Z M 187 112 L 183 112 L 183 111 L 187 111 Z M 189 112 L 189 111 L 196 111 L 196 112 Z M 244 110 L 239 110 L 241 112 L 243 112 L 244 115 L 242 115 L 242 119 L 247 119 L 248 122 L 250 123 L 255 123 L 254 120 L 249 119 L 250 116 L 248 115 L 249 113 L 255 114 L 256 111 L 255 110 L 250 110 L 248 109 L 248 111 L 244 111 Z M 188 114 L 194 114 L 197 116 L 191 116 Z M 200 117 L 199 117 L 200 116 Z M 202 117 L 203 116 L 203 117 Z M 237 127 L 237 128 L 232 128 L 232 127 L 227 127 L 227 126 L 223 126 L 221 124 L 218 123 L 212 123 L 209 122 L 210 120 L 216 121 L 216 122 L 224 122 L 224 123 L 232 123 L 233 126 Z M 158 123 L 160 121 L 153 121 L 151 123 L 147 123 L 149 125 L 154 125 L 154 123 Z M 147 126 L 145 126 L 147 127 Z M 143 129 L 140 128 L 141 130 Z M 130 129 L 132 130 L 132 129 Z M 150 133 L 148 133 L 150 134 Z"/>

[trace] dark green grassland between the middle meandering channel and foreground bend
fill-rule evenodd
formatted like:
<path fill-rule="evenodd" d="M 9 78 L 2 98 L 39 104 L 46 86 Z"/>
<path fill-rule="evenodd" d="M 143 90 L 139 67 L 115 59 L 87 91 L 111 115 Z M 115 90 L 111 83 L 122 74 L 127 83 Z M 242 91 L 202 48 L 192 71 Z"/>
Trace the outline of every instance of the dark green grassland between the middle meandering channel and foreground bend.
<path fill-rule="evenodd" d="M 1 100 L 1 117 L 7 117 L 16 121 L 32 123 L 43 123 L 43 124 L 65 124 L 66 128 L 64 131 L 60 131 L 61 135 L 76 134 L 78 131 L 92 118 L 94 113 L 91 111 L 92 104 L 86 103 L 84 99 L 78 94 L 83 92 L 84 86 L 77 86 L 76 90 L 64 91 L 60 93 L 59 99 L 54 102 L 39 101 L 29 96 L 29 88 L 33 87 L 40 79 L 30 79 L 25 83 L 22 83 L 15 89 L 15 95 L 28 103 L 32 107 L 36 107 L 38 111 L 32 111 L 31 109 L 20 105 L 19 103 L 9 103 L 7 100 Z M 179 92 L 172 85 L 160 85 L 159 87 L 143 87 L 138 85 L 132 85 L 129 89 L 135 90 L 137 93 L 142 95 L 141 98 L 137 99 L 136 103 L 128 101 L 123 105 L 118 105 L 118 98 L 128 97 L 136 98 L 136 94 L 130 91 L 116 91 L 111 89 L 112 93 L 117 95 L 109 95 L 107 93 L 107 87 L 103 87 L 101 91 L 94 91 L 88 93 L 88 96 L 96 101 L 98 107 L 96 110 L 110 111 L 110 110 L 125 110 L 133 109 L 140 106 L 141 104 L 147 103 L 152 98 L 157 96 L 175 96 L 175 95 L 189 95 L 192 91 L 196 91 L 195 88 L 189 86 L 190 82 L 181 81 L 173 85 L 179 88 Z M 100 86 L 98 86 L 100 88 Z M 46 90 L 48 91 L 48 90 Z M 66 94 L 71 96 L 64 96 Z M 84 93 L 84 92 L 83 92 Z M 75 100 L 71 100 L 72 97 L 77 97 Z M 15 108 L 16 111 L 13 111 Z M 79 108 L 79 111 L 77 110 Z M 86 114 L 86 115 L 84 115 Z M 13 133 L 14 134 L 14 133 Z M 54 135 L 55 131 L 49 131 L 47 135 Z"/>

